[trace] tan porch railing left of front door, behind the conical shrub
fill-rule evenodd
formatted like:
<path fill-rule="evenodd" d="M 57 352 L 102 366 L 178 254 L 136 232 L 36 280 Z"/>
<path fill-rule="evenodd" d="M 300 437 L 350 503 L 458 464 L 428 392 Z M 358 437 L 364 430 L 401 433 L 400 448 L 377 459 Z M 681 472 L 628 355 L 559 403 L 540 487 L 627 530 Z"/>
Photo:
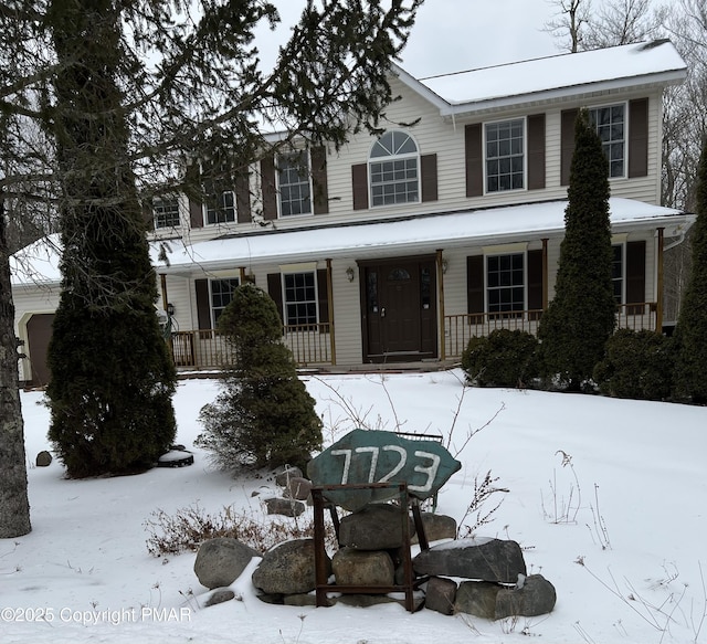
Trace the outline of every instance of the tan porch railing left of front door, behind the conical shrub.
<path fill-rule="evenodd" d="M 300 367 L 331 363 L 328 323 L 287 325 L 283 329 L 283 342 Z M 175 365 L 184 369 L 221 369 L 233 365 L 235 357 L 231 344 L 214 329 L 176 331 L 169 339 L 169 347 Z"/>

